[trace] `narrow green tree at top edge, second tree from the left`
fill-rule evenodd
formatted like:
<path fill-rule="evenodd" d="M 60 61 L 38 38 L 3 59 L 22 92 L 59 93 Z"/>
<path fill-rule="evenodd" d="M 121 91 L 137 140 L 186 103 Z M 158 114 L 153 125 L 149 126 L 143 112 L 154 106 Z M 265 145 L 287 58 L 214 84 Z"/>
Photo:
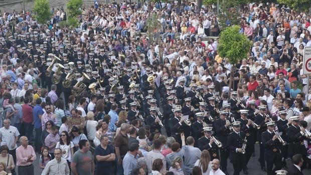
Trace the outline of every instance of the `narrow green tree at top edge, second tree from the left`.
<path fill-rule="evenodd" d="M 67 3 L 68 23 L 72 28 L 79 26 L 78 16 L 82 14 L 82 0 L 70 0 Z"/>

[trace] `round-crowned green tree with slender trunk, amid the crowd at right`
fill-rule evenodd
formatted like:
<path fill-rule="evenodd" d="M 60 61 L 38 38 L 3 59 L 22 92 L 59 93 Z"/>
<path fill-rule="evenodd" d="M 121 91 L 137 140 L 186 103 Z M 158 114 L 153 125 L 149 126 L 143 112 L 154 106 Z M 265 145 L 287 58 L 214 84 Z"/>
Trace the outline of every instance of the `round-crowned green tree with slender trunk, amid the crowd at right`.
<path fill-rule="evenodd" d="M 247 53 L 251 46 L 250 41 L 243 34 L 239 33 L 240 26 L 227 27 L 220 33 L 217 51 L 222 58 L 228 58 L 232 65 L 229 83 L 229 98 L 233 81 L 235 64 L 241 59 L 247 58 Z"/>

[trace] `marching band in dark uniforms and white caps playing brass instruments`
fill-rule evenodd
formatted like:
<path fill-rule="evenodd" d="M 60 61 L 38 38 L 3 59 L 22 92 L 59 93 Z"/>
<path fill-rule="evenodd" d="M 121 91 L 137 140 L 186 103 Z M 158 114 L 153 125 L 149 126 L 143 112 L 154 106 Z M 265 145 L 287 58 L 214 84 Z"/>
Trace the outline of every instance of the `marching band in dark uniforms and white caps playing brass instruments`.
<path fill-rule="evenodd" d="M 77 55 L 79 59 L 79 53 Z M 306 158 L 303 140 L 310 134 L 303 122 L 299 122 L 299 116 L 286 119 L 286 110 L 279 111 L 279 117 L 270 116 L 266 105 L 256 106 L 255 101 L 248 101 L 246 105 L 237 92 L 231 92 L 231 99 L 225 104 L 214 85 L 194 83 L 186 87 L 185 78 L 179 79 L 176 87 L 175 80 L 168 77 L 160 79 L 159 84 L 152 66 L 141 70 L 135 66 L 136 62 L 121 66 L 119 62 L 102 62 L 103 56 L 98 55 L 99 58 L 90 58 L 89 64 L 84 65 L 80 61 L 69 62 L 70 59 L 57 63 L 61 59 L 49 56 L 48 62 L 52 61 L 45 75 L 53 84 L 67 89 L 66 96 L 94 94 L 105 100 L 106 114 L 115 103 L 117 113 L 126 111 L 129 122 L 140 119 L 150 126 L 152 133 L 163 133 L 165 128 L 166 134 L 175 135 L 180 145 L 181 133 L 186 138 L 193 136 L 195 146 L 209 150 L 212 159 L 221 160 L 225 173 L 228 173 L 229 158 L 234 174 L 242 170 L 248 174 L 247 164 L 257 141 L 258 161 L 267 174 L 286 168 L 285 159 L 296 153 Z"/>

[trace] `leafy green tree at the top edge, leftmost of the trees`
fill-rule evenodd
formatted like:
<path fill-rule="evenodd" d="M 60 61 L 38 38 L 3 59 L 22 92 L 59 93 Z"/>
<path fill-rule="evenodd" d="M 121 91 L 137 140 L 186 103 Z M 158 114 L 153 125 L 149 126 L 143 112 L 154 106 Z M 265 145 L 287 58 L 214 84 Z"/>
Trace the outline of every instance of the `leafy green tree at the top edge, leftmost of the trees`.
<path fill-rule="evenodd" d="M 50 17 L 50 1 L 49 0 L 35 0 L 34 6 L 35 19 L 40 23 L 46 23 Z"/>

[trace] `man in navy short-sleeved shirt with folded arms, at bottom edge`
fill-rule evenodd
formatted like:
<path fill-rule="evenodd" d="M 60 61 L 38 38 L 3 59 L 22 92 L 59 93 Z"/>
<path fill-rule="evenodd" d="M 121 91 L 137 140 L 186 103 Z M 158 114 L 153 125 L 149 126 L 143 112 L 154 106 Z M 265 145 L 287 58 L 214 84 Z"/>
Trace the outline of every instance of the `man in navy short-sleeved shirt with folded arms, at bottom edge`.
<path fill-rule="evenodd" d="M 113 164 L 115 160 L 115 153 L 114 148 L 108 144 L 108 142 L 108 137 L 103 135 L 100 138 L 100 145 L 95 148 L 97 175 L 103 174 L 103 172 L 105 172 L 104 174 L 107 175 L 114 174 Z"/>

